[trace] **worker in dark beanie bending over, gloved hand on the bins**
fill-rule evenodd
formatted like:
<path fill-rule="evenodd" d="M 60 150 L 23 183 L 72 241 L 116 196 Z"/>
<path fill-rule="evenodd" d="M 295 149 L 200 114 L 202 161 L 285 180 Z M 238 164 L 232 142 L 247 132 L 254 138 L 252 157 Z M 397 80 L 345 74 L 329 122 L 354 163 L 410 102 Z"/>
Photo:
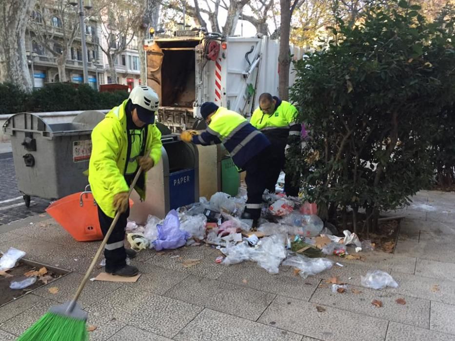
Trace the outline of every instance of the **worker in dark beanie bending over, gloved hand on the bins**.
<path fill-rule="evenodd" d="M 237 169 L 246 170 L 248 199 L 242 218 L 252 219 L 256 227 L 270 167 L 270 142 L 245 117 L 213 102 L 203 103 L 200 114 L 208 124 L 207 129 L 200 134 L 185 131 L 180 138 L 203 146 L 222 143 Z"/>

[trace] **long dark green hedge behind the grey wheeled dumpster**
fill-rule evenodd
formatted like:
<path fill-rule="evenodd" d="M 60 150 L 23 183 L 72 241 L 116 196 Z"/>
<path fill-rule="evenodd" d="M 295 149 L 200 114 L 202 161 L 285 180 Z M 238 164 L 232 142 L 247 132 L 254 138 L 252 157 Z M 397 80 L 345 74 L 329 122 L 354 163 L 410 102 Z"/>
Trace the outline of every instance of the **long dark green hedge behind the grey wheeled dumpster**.
<path fill-rule="evenodd" d="M 111 109 L 127 97 L 126 91 L 100 93 L 87 84 L 50 83 L 28 94 L 5 83 L 0 84 L 0 114 Z"/>

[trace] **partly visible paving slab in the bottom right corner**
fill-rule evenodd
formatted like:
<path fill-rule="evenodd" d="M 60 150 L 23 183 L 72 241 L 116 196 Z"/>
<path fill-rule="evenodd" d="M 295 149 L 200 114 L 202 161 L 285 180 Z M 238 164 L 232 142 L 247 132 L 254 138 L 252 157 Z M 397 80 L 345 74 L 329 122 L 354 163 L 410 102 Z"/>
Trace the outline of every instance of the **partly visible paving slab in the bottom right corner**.
<path fill-rule="evenodd" d="M 390 322 L 386 341 L 452 341 L 453 336 L 415 326 Z"/>

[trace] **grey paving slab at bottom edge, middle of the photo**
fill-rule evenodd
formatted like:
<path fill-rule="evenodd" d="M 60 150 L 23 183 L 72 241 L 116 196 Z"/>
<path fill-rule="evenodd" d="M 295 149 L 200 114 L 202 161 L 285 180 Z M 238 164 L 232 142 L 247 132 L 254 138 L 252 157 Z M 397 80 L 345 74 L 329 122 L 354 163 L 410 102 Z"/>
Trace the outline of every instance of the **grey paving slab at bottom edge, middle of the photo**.
<path fill-rule="evenodd" d="M 295 333 L 206 308 L 174 340 L 299 341 L 301 338 L 301 335 Z"/>

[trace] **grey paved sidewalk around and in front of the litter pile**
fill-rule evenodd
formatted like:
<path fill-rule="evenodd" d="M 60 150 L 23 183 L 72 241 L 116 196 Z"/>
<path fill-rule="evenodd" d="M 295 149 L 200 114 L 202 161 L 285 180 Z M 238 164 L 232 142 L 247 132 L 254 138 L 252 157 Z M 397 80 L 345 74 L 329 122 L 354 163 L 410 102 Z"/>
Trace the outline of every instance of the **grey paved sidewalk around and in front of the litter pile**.
<path fill-rule="evenodd" d="M 218 250 L 208 246 L 141 251 L 133 262 L 143 272 L 137 283 L 87 285 L 80 303 L 97 326 L 90 339 L 455 340 L 454 203 L 455 193 L 419 192 L 398 212 L 406 219 L 395 254 L 333 258 L 344 266 L 306 280 L 286 266 L 270 275 L 254 263 L 216 264 Z M 28 259 L 73 272 L 1 307 L 0 340 L 14 340 L 49 306 L 69 300 L 99 246 L 75 242 L 51 219 L 22 222 L 13 231 L 0 227 L 1 250 L 18 247 Z M 194 258 L 199 265 L 183 267 Z M 362 287 L 360 276 L 375 269 L 388 271 L 398 288 Z M 332 293 L 324 281 L 332 276 L 349 284 L 345 293 Z M 50 286 L 59 292 L 49 293 Z M 372 305 L 375 299 L 383 306 Z"/>

